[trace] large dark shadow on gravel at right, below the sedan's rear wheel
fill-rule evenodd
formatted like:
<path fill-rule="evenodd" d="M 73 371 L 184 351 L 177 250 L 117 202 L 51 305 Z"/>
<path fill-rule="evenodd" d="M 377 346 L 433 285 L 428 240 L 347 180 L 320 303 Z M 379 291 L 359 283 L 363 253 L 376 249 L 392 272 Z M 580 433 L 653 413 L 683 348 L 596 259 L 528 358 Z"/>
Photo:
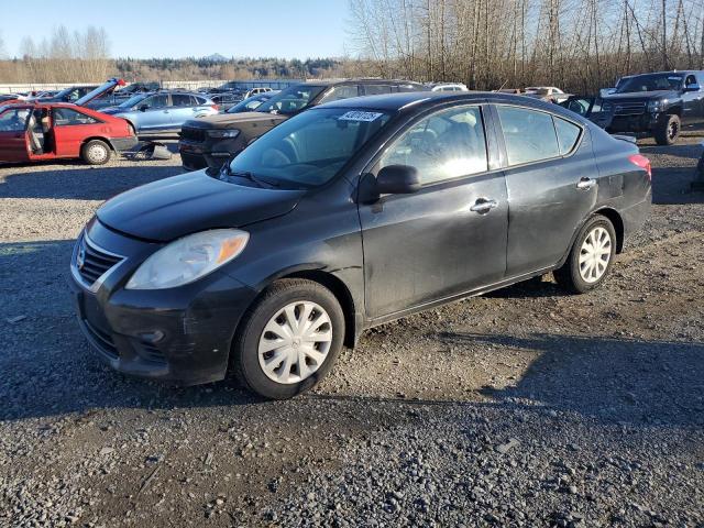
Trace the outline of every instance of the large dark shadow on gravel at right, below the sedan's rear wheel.
<path fill-rule="evenodd" d="M 542 405 L 632 426 L 704 426 L 704 343 L 544 333 L 440 332 L 438 338 L 459 346 L 471 342 L 539 352 L 514 385 L 481 391 L 499 403 Z"/>

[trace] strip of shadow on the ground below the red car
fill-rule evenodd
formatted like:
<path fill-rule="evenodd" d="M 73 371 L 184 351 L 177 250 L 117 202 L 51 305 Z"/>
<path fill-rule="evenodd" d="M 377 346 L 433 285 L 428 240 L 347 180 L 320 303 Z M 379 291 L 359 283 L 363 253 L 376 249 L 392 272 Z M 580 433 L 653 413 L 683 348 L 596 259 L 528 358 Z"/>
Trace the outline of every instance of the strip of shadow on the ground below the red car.
<path fill-rule="evenodd" d="M 58 168 L 56 164 L 33 168 L 18 173 L 12 167 L 2 170 L 0 198 L 107 200 L 133 187 L 183 173 L 182 167 L 148 161 L 118 167 L 86 167 L 67 162 Z"/>

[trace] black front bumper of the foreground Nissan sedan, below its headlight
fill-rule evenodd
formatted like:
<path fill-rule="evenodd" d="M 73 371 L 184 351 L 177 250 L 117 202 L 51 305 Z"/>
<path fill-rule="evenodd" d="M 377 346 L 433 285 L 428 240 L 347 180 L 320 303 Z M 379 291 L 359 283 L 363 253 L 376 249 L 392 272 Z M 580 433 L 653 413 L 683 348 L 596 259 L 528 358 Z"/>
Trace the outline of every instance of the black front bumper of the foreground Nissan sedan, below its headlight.
<path fill-rule="evenodd" d="M 96 220 L 81 235 L 111 253 L 128 255 L 95 284 L 72 257 L 72 294 L 78 323 L 99 356 L 125 374 L 183 385 L 222 380 L 237 326 L 256 293 L 215 272 L 200 280 L 162 290 L 128 290 L 124 284 L 155 244 L 108 231 Z"/>

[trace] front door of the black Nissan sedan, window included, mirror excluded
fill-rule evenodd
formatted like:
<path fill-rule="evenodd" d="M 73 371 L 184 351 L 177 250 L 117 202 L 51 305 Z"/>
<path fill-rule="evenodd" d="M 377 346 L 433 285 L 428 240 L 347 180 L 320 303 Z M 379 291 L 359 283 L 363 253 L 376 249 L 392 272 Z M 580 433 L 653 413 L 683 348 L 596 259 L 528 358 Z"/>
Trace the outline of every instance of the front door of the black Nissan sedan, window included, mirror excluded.
<path fill-rule="evenodd" d="M 360 205 L 366 311 L 376 319 L 504 277 L 508 202 L 485 108 L 436 110 L 405 129 L 372 169 L 417 168 L 422 188 Z"/>

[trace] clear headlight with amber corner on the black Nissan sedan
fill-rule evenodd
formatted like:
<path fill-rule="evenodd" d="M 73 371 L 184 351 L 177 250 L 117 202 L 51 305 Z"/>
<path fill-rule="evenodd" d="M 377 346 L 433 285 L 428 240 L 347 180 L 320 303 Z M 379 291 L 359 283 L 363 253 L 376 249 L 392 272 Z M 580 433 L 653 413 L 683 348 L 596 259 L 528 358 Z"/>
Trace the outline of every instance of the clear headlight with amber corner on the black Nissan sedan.
<path fill-rule="evenodd" d="M 193 283 L 242 253 L 249 240 L 250 234 L 239 229 L 189 234 L 144 261 L 125 288 L 163 289 Z"/>

